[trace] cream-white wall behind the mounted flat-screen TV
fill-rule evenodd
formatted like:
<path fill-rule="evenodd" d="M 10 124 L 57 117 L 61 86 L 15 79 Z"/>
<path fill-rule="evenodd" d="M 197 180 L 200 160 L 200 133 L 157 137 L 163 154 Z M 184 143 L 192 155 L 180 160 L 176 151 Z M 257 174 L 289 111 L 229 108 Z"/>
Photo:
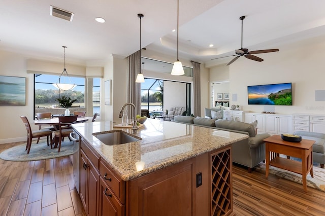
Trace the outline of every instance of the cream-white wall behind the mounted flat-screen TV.
<path fill-rule="evenodd" d="M 323 114 L 325 101 L 315 101 L 315 90 L 325 89 L 325 38 L 276 46 L 279 52 L 256 54 L 262 62 L 240 57 L 230 65 L 230 104 L 239 104 L 241 110 L 261 113 L 274 110 L 277 114 Z M 274 48 L 274 46 L 272 46 Z M 261 48 L 267 49 L 267 48 Z M 211 68 L 211 71 L 218 68 Z M 292 106 L 248 105 L 247 86 L 275 83 L 293 83 Z M 232 100 L 237 94 L 238 101 Z"/>

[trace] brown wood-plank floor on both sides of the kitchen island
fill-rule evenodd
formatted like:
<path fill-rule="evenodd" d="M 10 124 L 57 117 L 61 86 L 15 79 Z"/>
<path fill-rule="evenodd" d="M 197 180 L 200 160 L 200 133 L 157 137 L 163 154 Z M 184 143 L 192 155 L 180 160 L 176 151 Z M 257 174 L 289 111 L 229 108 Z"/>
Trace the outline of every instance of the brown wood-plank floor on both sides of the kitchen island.
<path fill-rule="evenodd" d="M 21 142 L 0 145 L 0 152 Z M 325 171 L 325 169 L 324 169 Z M 325 192 L 233 166 L 236 215 L 325 215 Z M 0 215 L 85 215 L 73 181 L 72 157 L 0 159 Z"/>

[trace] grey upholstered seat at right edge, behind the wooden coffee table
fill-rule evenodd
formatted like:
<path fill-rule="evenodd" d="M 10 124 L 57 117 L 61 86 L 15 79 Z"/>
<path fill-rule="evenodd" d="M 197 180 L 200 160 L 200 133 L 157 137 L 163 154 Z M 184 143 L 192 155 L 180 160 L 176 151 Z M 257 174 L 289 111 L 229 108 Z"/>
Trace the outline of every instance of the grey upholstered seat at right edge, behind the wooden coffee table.
<path fill-rule="evenodd" d="M 297 131 L 296 135 L 300 135 L 303 139 L 315 140 L 313 145 L 313 162 L 319 163 L 321 168 L 325 164 L 325 134 L 307 131 Z"/>

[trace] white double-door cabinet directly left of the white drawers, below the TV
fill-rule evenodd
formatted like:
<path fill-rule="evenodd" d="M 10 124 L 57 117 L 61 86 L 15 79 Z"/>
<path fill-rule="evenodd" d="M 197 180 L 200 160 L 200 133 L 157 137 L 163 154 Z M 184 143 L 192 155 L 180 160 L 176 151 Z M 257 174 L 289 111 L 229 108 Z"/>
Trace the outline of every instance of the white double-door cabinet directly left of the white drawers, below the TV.
<path fill-rule="evenodd" d="M 265 115 L 265 132 L 272 134 L 291 133 L 291 116 Z"/>

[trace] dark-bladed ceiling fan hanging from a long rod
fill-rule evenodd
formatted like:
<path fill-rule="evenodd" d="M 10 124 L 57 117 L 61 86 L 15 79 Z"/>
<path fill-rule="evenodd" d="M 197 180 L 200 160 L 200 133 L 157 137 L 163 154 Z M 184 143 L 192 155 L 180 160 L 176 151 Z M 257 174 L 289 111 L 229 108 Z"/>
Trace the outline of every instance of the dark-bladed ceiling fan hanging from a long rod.
<path fill-rule="evenodd" d="M 235 55 L 230 55 L 230 56 L 236 56 L 231 60 L 227 65 L 230 65 L 234 61 L 236 61 L 240 56 L 245 56 L 245 58 L 254 60 L 254 61 L 264 61 L 264 59 L 259 58 L 257 56 L 254 56 L 252 54 L 258 54 L 258 53 L 270 53 L 270 52 L 277 52 L 279 49 L 270 49 L 270 50 L 255 50 L 255 51 L 248 51 L 248 49 L 243 48 L 243 20 L 245 19 L 245 16 L 239 17 L 239 19 L 242 21 L 242 47 L 239 50 L 235 50 L 236 54 Z M 220 58 L 225 58 L 229 56 L 223 56 Z M 213 58 L 211 60 L 218 59 L 218 58 Z"/>

